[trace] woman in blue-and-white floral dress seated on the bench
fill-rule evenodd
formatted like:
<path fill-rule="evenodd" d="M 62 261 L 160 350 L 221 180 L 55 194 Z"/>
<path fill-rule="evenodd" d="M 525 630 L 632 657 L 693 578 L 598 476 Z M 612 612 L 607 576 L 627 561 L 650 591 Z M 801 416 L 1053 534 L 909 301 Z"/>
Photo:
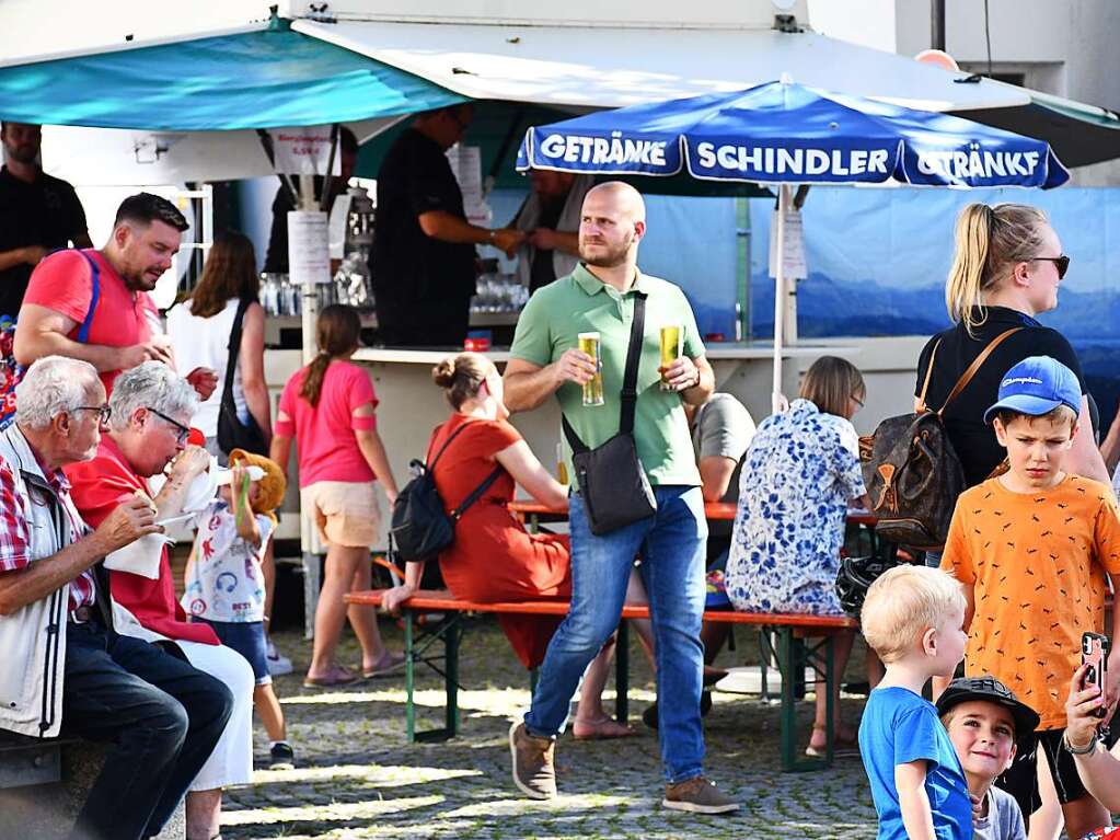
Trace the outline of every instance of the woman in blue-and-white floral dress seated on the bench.
<path fill-rule="evenodd" d="M 801 396 L 766 418 L 747 449 L 739 505 L 727 560 L 727 595 L 745 613 L 842 615 L 834 584 L 840 569 L 848 504 L 865 496 L 859 442 L 850 420 L 864 404 L 864 377 L 836 356 L 805 373 Z M 855 633 L 836 637 L 842 674 Z M 839 678 L 833 681 L 839 697 Z M 825 693 L 816 692 L 816 721 L 808 753 L 824 749 Z M 840 726 L 837 745 L 856 732 Z"/>

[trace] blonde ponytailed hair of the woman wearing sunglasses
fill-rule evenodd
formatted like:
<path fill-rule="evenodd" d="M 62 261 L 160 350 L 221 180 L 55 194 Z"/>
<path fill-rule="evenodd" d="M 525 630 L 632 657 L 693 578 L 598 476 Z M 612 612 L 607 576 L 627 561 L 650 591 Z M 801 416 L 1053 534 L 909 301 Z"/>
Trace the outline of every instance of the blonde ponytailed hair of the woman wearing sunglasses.
<path fill-rule="evenodd" d="M 945 308 L 969 335 L 987 319 L 984 299 L 1011 265 L 1042 248 L 1046 214 L 1025 204 L 973 203 L 961 211 L 954 233 L 953 267 L 945 282 Z M 980 310 L 979 316 L 977 309 Z"/>

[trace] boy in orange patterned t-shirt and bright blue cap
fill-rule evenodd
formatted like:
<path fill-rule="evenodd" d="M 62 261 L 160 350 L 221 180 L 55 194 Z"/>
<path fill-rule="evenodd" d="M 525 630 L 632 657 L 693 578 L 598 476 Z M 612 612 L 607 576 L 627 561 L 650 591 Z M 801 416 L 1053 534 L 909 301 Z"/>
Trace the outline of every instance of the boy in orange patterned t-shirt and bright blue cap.
<path fill-rule="evenodd" d="M 941 560 L 969 601 L 964 673 L 993 674 L 1038 711 L 1035 737 L 1070 837 L 1109 819 L 1082 785 L 1062 740 L 1081 634 L 1103 633 L 1105 575 L 1120 581 L 1120 514 L 1112 489 L 1062 472 L 1080 408 L 1077 379 L 1056 360 L 1032 356 L 1007 372 L 984 420 L 1007 448 L 1010 469 L 961 494 Z M 1112 624 L 1114 638 L 1116 617 Z M 1117 691 L 1118 665 L 1111 655 L 1109 697 Z M 1040 805 L 1033 746 L 1020 741 L 1019 757 L 998 782 L 1028 821 Z"/>

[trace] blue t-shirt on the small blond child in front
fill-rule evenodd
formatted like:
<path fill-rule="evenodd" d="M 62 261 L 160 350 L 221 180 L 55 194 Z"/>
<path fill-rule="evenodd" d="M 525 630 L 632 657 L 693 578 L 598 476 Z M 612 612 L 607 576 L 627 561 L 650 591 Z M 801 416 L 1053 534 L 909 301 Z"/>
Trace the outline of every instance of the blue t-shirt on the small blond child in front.
<path fill-rule="evenodd" d="M 937 710 L 909 689 L 876 689 L 859 725 L 859 753 L 879 814 L 879 840 L 906 840 L 895 767 L 925 759 L 925 792 L 939 840 L 972 840 L 972 802 Z"/>

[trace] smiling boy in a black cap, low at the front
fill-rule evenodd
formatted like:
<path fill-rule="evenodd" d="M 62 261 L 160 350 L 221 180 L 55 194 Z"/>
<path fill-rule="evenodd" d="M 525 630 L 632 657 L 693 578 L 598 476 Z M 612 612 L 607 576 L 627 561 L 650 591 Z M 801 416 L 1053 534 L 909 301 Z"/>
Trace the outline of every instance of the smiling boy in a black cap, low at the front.
<path fill-rule="evenodd" d="M 1011 766 L 1016 740 L 1030 737 L 1038 715 L 993 676 L 953 680 L 937 699 L 937 715 L 961 759 L 969 793 L 980 802 L 974 840 L 1026 840 L 1018 803 L 992 782 Z"/>

